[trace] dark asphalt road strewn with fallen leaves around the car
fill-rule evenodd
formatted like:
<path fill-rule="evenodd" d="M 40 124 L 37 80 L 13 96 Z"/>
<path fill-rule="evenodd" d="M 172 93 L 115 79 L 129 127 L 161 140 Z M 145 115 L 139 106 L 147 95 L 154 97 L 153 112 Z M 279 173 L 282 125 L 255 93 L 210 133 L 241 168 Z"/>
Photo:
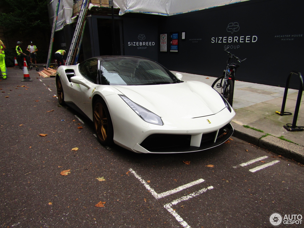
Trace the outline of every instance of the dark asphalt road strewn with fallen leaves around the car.
<path fill-rule="evenodd" d="M 58 106 L 54 78 L 35 72 L 0 81 L 1 228 L 273 227 L 271 213 L 304 216 L 302 164 L 235 137 L 186 154 L 103 147 L 90 120 Z"/>

